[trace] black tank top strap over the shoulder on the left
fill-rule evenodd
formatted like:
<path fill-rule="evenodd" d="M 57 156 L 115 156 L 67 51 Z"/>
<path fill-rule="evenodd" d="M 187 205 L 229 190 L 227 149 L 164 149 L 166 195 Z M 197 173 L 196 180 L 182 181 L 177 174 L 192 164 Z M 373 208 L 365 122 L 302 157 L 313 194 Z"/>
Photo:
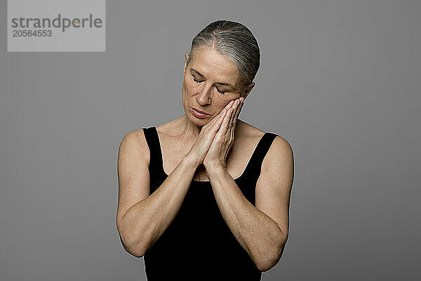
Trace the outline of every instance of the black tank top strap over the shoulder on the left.
<path fill-rule="evenodd" d="M 149 172 L 161 177 L 165 174 L 165 171 L 163 171 L 161 143 L 159 142 L 158 132 L 155 126 L 142 129 L 150 151 Z"/>

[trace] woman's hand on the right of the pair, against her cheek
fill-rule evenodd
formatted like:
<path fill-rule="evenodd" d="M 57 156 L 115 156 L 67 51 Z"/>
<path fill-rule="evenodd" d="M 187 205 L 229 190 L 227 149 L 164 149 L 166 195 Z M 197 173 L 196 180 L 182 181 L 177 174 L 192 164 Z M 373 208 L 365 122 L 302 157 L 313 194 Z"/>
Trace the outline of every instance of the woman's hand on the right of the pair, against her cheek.
<path fill-rule="evenodd" d="M 234 144 L 235 124 L 239 117 L 244 98 L 237 98 L 231 109 L 225 115 L 220 129 L 215 134 L 206 157 L 203 159 L 203 166 L 206 169 L 213 169 L 222 166 L 227 168 L 227 155 Z"/>

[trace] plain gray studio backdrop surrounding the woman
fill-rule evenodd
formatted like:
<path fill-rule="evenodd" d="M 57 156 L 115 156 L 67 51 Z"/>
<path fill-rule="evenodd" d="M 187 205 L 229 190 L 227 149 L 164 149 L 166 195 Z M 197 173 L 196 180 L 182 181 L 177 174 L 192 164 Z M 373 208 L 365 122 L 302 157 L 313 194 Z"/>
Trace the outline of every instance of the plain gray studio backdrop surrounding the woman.
<path fill-rule="evenodd" d="M 261 48 L 240 119 L 295 156 L 290 237 L 262 280 L 421 277 L 420 1 L 107 1 L 106 53 L 7 53 L 6 11 L 0 280 L 146 279 L 115 225 L 119 143 L 182 115 L 184 54 L 218 19 Z"/>

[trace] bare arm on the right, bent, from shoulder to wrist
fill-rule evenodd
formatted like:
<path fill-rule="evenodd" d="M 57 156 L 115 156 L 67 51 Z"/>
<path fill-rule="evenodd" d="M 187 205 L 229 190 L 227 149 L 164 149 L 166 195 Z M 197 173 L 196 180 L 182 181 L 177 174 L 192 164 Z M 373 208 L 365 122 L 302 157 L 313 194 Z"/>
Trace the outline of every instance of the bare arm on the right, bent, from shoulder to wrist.
<path fill-rule="evenodd" d="M 293 181 L 293 154 L 279 136 L 262 163 L 256 183 L 256 207 L 222 166 L 208 166 L 206 173 L 227 226 L 241 247 L 262 271 L 281 258 L 288 238 L 288 208 Z"/>

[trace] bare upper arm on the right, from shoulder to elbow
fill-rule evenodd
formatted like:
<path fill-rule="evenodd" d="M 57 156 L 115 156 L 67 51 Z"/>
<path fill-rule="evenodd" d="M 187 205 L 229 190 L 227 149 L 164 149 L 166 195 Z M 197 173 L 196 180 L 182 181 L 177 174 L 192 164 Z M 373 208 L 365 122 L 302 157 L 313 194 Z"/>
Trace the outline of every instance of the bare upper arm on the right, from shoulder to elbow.
<path fill-rule="evenodd" d="M 263 159 L 256 183 L 255 207 L 279 226 L 288 237 L 290 192 L 294 177 L 293 150 L 288 141 L 276 136 Z"/>

